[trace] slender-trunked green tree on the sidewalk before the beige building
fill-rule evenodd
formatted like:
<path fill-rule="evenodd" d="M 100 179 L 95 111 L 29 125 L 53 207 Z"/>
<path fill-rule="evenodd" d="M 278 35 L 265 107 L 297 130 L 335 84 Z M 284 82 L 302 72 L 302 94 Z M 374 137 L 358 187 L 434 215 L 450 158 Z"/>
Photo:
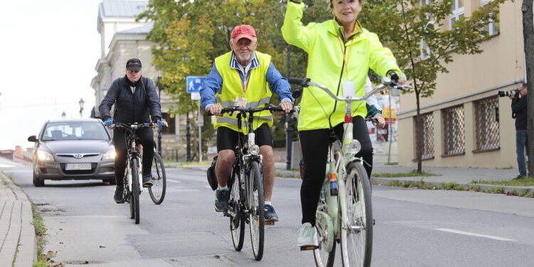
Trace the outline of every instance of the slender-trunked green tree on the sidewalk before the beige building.
<path fill-rule="evenodd" d="M 431 1 L 424 6 L 419 6 L 419 0 L 365 1 L 360 21 L 393 51 L 413 86 L 404 93 L 415 93 L 417 103 L 417 172 L 422 172 L 424 142 L 420 98 L 433 95 L 437 73 L 448 73 L 445 65 L 453 61 L 454 53 L 483 52 L 479 44 L 489 38 L 484 26 L 489 21 L 498 21 L 499 4 L 505 1 L 491 1 L 471 16 L 456 21 L 451 28 L 446 28 L 446 21 L 454 0 Z M 423 51 L 422 43 L 427 48 Z"/>

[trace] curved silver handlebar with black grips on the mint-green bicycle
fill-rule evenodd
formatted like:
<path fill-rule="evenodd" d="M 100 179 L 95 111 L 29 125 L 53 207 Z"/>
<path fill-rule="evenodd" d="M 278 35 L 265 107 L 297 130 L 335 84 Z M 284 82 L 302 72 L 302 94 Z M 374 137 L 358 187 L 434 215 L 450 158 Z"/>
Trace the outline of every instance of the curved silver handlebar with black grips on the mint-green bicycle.
<path fill-rule="evenodd" d="M 320 88 L 322 89 L 323 91 L 325 91 L 325 93 L 327 93 L 328 95 L 330 95 L 331 98 L 334 98 L 335 100 L 338 100 L 338 101 L 345 101 L 347 103 L 350 103 L 350 102 L 355 102 L 355 101 L 361 101 L 361 100 L 366 100 L 367 98 L 370 98 L 371 95 L 375 95 L 376 93 L 378 93 L 379 91 L 381 90 L 384 90 L 384 89 L 399 89 L 399 90 L 407 90 L 407 89 L 411 89 L 412 86 L 409 86 L 409 85 L 399 85 L 398 83 L 395 83 L 393 80 L 391 80 L 390 78 L 387 78 L 387 77 L 383 77 L 382 78 L 382 83 L 380 85 L 377 85 L 377 87 L 375 87 L 373 90 L 371 90 L 369 93 L 367 93 L 366 95 L 362 96 L 362 97 L 347 97 L 347 98 L 343 98 L 343 97 L 339 97 L 337 95 L 334 95 L 334 93 L 332 93 L 332 91 L 328 90 L 328 88 L 325 86 L 325 85 L 322 85 L 320 83 L 313 83 L 310 78 L 288 78 L 288 81 L 289 83 L 291 84 L 295 84 L 295 85 L 300 85 L 302 86 L 303 88 L 304 87 L 310 87 L 310 86 L 313 86 L 313 87 L 317 87 L 317 88 Z"/>

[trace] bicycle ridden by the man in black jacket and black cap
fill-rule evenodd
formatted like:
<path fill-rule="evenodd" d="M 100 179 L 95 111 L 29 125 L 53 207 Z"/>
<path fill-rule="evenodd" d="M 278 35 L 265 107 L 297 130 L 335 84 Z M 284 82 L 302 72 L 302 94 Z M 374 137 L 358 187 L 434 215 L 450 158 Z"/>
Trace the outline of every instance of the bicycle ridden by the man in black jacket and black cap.
<path fill-rule="evenodd" d="M 115 127 L 124 129 L 127 134 L 125 140 L 127 147 L 127 160 L 124 179 L 124 195 L 126 202 L 130 204 L 130 219 L 135 219 L 135 224 L 140 221 L 139 196 L 142 192 L 142 158 L 139 148 L 137 147 L 137 135 L 135 132 L 141 129 L 152 128 L 150 123 L 137 122 L 125 124 L 116 122 Z"/>

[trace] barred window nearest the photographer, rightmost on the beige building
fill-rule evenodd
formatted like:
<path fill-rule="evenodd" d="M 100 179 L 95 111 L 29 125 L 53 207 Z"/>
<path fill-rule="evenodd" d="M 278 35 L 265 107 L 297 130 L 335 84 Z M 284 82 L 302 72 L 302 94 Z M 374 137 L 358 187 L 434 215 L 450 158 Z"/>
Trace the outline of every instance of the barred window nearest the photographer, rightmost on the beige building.
<path fill-rule="evenodd" d="M 498 122 L 498 97 L 484 98 L 475 102 L 476 150 L 496 150 L 501 147 Z"/>

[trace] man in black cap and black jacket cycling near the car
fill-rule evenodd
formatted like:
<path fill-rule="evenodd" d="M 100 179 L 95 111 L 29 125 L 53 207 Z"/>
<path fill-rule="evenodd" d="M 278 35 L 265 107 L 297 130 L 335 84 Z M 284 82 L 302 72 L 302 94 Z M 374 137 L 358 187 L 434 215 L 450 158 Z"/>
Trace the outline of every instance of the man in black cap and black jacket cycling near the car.
<path fill-rule="evenodd" d="M 154 126 L 167 126 L 167 122 L 162 120 L 161 105 L 156 93 L 154 82 L 150 78 L 142 77 L 141 61 L 137 58 L 130 58 L 126 63 L 126 75 L 117 78 L 110 86 L 110 90 L 105 95 L 104 100 L 98 108 L 105 125 L 111 127 L 113 120 L 121 123 L 150 123 Z M 110 115 L 112 105 L 115 104 L 113 118 Z M 152 169 L 152 158 L 154 157 L 154 133 L 152 129 L 137 130 L 137 137 L 140 137 L 143 146 L 142 159 L 142 179 L 143 187 L 151 187 L 150 170 Z M 126 167 L 126 142 L 125 130 L 113 129 L 113 143 L 115 145 L 115 196 L 113 199 L 117 203 L 124 202 L 124 185 L 122 179 Z"/>

